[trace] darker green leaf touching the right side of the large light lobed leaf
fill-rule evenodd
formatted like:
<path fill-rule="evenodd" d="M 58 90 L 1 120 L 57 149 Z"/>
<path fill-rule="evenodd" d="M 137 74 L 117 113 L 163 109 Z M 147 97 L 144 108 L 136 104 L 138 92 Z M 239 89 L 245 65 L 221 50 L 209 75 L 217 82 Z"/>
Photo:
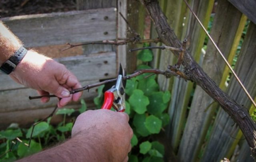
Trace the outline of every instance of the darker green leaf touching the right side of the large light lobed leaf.
<path fill-rule="evenodd" d="M 147 106 L 147 110 L 149 113 L 160 114 L 167 108 L 167 103 L 163 102 L 163 96 L 163 92 L 154 92 L 148 97 L 150 104 Z"/>

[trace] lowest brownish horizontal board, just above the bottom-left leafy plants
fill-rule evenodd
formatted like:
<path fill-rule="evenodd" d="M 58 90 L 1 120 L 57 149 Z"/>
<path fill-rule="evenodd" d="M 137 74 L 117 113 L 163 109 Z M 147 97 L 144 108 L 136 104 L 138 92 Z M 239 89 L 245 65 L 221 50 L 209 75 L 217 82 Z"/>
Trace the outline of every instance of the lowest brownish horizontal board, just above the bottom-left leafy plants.
<path fill-rule="evenodd" d="M 94 104 L 86 102 L 88 109 L 93 109 Z M 79 109 L 81 104 L 78 102 L 76 104 L 67 105 L 65 108 Z M 32 110 L 22 110 L 22 111 L 12 111 L 0 113 L 0 130 L 6 129 L 11 123 L 18 123 L 19 126 L 24 127 L 28 124 L 34 123 L 36 119 L 43 119 L 52 113 L 54 107 L 42 108 Z M 62 121 L 62 115 L 54 115 L 51 119 L 52 123 L 60 123 Z"/>

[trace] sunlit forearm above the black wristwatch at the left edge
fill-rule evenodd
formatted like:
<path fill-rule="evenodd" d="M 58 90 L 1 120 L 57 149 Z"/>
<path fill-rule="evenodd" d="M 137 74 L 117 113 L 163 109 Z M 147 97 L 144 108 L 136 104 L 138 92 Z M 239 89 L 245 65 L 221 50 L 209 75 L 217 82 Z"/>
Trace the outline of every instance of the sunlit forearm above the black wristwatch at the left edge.
<path fill-rule="evenodd" d="M 22 42 L 0 21 L 0 65 L 7 61 Z"/>

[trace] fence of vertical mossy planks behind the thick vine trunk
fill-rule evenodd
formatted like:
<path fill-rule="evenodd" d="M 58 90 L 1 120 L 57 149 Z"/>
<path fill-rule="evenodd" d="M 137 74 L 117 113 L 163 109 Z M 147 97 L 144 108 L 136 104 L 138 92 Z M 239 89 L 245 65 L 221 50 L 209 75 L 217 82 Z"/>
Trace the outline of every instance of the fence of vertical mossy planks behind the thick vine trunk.
<path fill-rule="evenodd" d="M 249 1 L 250 5 L 239 4 L 236 0 L 230 0 L 231 3 L 228 0 L 221 0 L 217 1 L 218 4 L 214 4 L 214 0 L 189 2 L 206 28 L 210 16 L 214 17 L 210 35 L 231 64 L 246 25 L 247 17 L 244 14 L 250 18 L 251 22 L 242 43 L 235 71 L 251 96 L 256 98 L 256 65 L 253 63 L 256 61 L 256 12 L 250 7 L 255 6 L 256 2 Z M 222 90 L 252 113 L 252 103 L 233 77 L 227 86 L 229 69 L 212 43 L 208 41 L 206 51 L 202 49 L 206 35 L 183 0 L 160 0 L 159 3 L 178 38 L 188 39 L 187 49 L 204 71 Z M 151 33 L 152 38 L 157 37 L 154 26 Z M 169 64 L 175 63 L 176 59 L 170 52 L 154 51 L 154 68 L 163 70 Z M 167 135 L 168 143 L 172 146 L 178 161 L 217 162 L 223 158 L 253 161 L 241 131 L 233 126 L 234 121 L 202 88 L 192 82 L 185 82 L 179 78 L 166 79 L 163 76 L 158 76 L 158 83 L 162 90 L 172 92 L 168 109 L 170 125 L 167 128 Z"/>

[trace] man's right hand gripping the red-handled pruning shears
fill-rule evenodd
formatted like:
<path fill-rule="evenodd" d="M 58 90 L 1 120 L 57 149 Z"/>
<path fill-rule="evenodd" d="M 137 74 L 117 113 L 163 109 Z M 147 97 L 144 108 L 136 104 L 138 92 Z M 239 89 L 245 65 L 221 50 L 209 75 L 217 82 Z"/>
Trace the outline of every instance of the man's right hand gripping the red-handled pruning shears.
<path fill-rule="evenodd" d="M 106 109 L 89 110 L 76 119 L 72 138 L 83 135 L 85 138 L 86 135 L 93 138 L 87 144 L 89 150 L 96 150 L 91 152 L 91 156 L 101 158 L 102 155 L 107 157 L 107 161 L 113 162 L 128 161 L 133 135 L 128 121 L 129 116 L 126 113 Z"/>

